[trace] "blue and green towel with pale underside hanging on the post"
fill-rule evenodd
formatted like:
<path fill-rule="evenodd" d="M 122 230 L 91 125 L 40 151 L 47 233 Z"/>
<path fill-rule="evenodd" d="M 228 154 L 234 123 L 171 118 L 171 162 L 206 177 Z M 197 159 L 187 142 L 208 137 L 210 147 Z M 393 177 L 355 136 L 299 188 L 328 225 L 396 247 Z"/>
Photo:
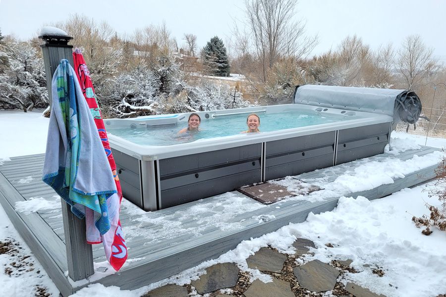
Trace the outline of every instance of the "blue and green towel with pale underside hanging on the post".
<path fill-rule="evenodd" d="M 66 59 L 53 76 L 52 95 L 43 181 L 77 217 L 93 214 L 86 219 L 87 238 L 89 230 L 105 235 L 118 215 L 111 199 L 117 197 L 116 184 L 76 73 Z"/>

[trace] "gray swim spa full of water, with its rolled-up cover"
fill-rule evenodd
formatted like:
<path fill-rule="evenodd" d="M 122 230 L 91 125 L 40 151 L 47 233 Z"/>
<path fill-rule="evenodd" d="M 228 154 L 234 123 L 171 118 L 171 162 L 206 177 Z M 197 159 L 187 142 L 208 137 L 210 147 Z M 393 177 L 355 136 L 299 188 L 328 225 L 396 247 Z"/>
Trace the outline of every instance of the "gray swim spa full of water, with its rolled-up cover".
<path fill-rule="evenodd" d="M 185 136 L 176 132 L 190 113 L 107 119 L 124 197 L 158 210 L 383 153 L 395 99 L 407 91 L 333 88 L 296 88 L 290 104 L 197 112 L 202 131 Z M 239 134 L 252 112 L 261 133 Z"/>

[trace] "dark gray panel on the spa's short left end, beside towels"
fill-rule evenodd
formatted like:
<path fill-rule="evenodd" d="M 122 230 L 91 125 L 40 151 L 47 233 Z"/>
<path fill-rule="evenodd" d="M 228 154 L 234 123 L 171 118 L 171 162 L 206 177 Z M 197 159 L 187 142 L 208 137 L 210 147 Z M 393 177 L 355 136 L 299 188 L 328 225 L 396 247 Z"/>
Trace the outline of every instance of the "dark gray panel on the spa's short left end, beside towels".
<path fill-rule="evenodd" d="M 139 160 L 113 148 L 111 152 L 116 163 L 122 196 L 143 208 Z"/>

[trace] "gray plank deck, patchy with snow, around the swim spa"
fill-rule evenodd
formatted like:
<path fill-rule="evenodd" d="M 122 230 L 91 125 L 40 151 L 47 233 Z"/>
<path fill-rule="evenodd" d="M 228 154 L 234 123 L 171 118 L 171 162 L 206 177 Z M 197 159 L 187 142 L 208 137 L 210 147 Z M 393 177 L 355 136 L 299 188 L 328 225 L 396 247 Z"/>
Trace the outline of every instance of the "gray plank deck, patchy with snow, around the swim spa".
<path fill-rule="evenodd" d="M 435 150 L 438 149 L 422 147 L 398 155 L 385 153 L 369 159 L 405 160 L 412 158 L 414 154 L 421 156 Z M 61 294 L 68 296 L 92 281 L 73 282 L 65 276 L 67 260 L 61 207 L 39 210 L 31 214 L 14 210 L 15 203 L 19 201 L 40 197 L 56 199 L 56 193 L 41 181 L 43 160 L 44 154 L 38 154 L 13 157 L 4 162 L 4 165 L 0 166 L 0 202 Z M 337 176 L 356 168 L 360 162 L 353 161 L 304 173 L 298 177 L 310 183 L 321 179 L 324 183 L 331 183 Z M 436 166 L 422 168 L 404 178 L 394 180 L 393 184 L 342 195 L 381 198 L 432 179 Z M 32 177 L 31 182 L 20 182 L 28 177 Z M 323 194 L 320 192 L 314 195 Z M 228 208 L 227 205 L 231 204 L 225 203 L 228 199 L 239 203 L 239 207 Z M 238 192 L 230 192 L 156 212 L 144 212 L 130 202 L 123 201 L 120 219 L 126 236 L 129 260 L 119 274 L 112 274 L 94 282 L 105 286 L 119 286 L 123 290 L 148 285 L 205 260 L 216 258 L 243 240 L 276 231 L 290 222 L 303 222 L 310 211 L 320 213 L 332 210 L 338 197 L 327 197 L 324 201 L 317 202 L 299 199 L 289 198 L 275 204 L 263 205 Z M 264 222 L 262 216 L 266 218 Z M 96 263 L 106 260 L 102 245 L 93 247 L 93 258 Z"/>

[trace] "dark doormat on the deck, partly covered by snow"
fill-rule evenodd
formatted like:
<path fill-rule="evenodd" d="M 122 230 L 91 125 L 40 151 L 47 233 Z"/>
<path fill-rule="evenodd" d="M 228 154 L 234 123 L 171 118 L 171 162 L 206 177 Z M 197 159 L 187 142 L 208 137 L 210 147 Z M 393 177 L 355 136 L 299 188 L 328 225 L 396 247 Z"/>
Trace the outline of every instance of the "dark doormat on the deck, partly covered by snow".
<path fill-rule="evenodd" d="M 280 179 L 279 179 L 280 180 Z M 308 195 L 312 192 L 323 190 L 322 188 L 296 179 L 293 186 L 298 189 L 296 193 L 288 192 L 286 187 L 269 182 L 258 183 L 251 186 L 238 188 L 237 191 L 256 199 L 263 204 L 271 204 L 285 197 L 294 197 L 298 195 Z"/>

